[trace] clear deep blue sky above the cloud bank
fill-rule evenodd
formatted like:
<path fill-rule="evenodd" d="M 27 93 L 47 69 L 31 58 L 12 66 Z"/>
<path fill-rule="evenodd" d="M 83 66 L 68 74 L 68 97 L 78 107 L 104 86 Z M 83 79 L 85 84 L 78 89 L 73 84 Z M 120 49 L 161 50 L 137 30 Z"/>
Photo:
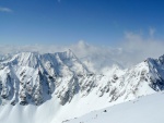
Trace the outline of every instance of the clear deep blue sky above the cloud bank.
<path fill-rule="evenodd" d="M 0 0 L 0 45 L 115 46 L 126 32 L 164 38 L 163 0 Z"/>

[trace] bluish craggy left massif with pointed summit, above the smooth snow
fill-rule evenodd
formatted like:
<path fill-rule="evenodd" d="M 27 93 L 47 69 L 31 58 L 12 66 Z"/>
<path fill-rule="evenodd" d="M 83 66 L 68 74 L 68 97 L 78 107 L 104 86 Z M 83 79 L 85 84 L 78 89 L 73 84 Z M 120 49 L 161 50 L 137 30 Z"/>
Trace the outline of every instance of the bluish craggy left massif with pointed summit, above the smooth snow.
<path fill-rule="evenodd" d="M 57 78 L 87 73 L 71 50 L 45 54 L 21 52 L 0 62 L 1 100 L 40 104 L 50 98 Z"/>

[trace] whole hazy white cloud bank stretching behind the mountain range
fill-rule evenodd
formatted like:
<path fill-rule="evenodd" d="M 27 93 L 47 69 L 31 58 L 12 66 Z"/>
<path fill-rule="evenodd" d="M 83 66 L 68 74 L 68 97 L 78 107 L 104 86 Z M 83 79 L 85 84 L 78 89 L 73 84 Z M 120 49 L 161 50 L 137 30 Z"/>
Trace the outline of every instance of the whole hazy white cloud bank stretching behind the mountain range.
<path fill-rule="evenodd" d="M 117 47 L 94 46 L 85 41 L 70 46 L 0 46 L 0 53 L 11 53 L 16 51 L 38 51 L 59 52 L 71 49 L 78 58 L 96 71 L 113 64 L 122 67 L 134 65 L 147 58 L 159 58 L 164 54 L 164 41 L 152 37 L 154 30 L 150 29 L 150 37 L 145 38 L 142 34 L 126 33 L 124 41 Z"/>

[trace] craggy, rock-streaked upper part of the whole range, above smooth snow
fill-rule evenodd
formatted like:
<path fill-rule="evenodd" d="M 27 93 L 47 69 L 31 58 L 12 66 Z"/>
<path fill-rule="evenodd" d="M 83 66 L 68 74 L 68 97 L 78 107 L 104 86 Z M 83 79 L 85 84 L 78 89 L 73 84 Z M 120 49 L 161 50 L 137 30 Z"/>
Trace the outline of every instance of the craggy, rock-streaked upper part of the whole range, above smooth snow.
<path fill-rule="evenodd" d="M 1 104 L 39 106 L 55 95 L 63 106 L 75 95 L 86 97 L 91 93 L 107 95 L 109 101 L 128 100 L 163 89 L 164 57 L 128 70 L 113 67 L 104 75 L 91 73 L 70 50 L 21 52 L 0 61 Z"/>

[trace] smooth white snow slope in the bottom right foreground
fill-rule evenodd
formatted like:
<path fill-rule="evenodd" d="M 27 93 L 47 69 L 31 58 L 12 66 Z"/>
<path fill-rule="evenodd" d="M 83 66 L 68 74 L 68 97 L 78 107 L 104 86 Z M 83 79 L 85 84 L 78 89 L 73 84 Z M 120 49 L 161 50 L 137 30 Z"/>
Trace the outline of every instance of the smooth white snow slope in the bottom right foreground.
<path fill-rule="evenodd" d="M 65 123 L 164 123 L 164 91 L 93 111 Z"/>

